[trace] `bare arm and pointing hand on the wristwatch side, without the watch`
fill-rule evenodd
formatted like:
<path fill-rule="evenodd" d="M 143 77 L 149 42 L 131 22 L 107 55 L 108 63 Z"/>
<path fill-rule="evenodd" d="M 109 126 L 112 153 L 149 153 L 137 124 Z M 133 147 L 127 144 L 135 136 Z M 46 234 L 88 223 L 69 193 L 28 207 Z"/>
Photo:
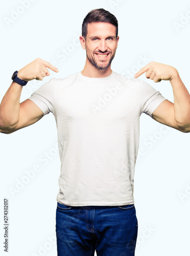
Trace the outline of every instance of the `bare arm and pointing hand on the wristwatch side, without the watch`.
<path fill-rule="evenodd" d="M 37 58 L 18 71 L 18 78 L 30 81 L 43 80 L 49 75 L 48 69 L 59 72 L 51 63 Z M 42 110 L 30 99 L 20 103 L 22 86 L 12 82 L 0 105 L 0 132 L 13 133 L 23 127 L 29 126 L 43 116 Z"/>

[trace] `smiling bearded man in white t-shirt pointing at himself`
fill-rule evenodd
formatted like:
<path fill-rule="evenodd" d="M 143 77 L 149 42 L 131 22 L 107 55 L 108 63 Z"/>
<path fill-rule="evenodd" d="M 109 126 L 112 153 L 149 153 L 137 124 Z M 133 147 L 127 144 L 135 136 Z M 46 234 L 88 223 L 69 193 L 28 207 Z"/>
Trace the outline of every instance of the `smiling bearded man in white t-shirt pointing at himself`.
<path fill-rule="evenodd" d="M 58 256 L 134 255 L 138 233 L 133 198 L 139 119 L 146 113 L 181 132 L 190 132 L 190 96 L 177 70 L 150 62 L 154 82 L 170 80 L 174 104 L 148 83 L 111 70 L 118 47 L 118 22 L 104 9 L 90 11 L 79 37 L 87 58 L 82 72 L 52 78 L 19 103 L 25 81 L 42 80 L 40 58 L 14 74 L 0 106 L 0 131 L 12 133 L 49 112 L 56 118 L 61 159 L 57 197 Z"/>

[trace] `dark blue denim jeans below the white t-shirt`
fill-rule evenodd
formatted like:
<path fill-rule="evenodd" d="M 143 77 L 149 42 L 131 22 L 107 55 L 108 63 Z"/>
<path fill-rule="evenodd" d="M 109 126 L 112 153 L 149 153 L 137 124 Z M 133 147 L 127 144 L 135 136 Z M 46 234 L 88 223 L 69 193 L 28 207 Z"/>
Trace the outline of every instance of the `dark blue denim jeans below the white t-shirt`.
<path fill-rule="evenodd" d="M 57 204 L 58 256 L 134 256 L 138 220 L 134 204 L 68 206 Z"/>

